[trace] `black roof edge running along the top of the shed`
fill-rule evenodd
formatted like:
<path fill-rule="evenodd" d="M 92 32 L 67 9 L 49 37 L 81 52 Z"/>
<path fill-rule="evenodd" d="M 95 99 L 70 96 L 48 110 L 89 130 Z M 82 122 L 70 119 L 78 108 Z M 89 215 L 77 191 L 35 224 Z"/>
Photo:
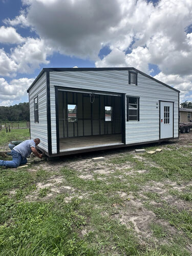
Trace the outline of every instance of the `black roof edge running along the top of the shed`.
<path fill-rule="evenodd" d="M 143 72 L 141 72 L 140 70 L 138 70 L 138 69 L 135 69 L 135 68 L 44 68 L 44 69 L 42 69 L 41 70 L 41 72 L 38 74 L 38 76 L 35 78 L 35 80 L 33 81 L 33 83 L 31 84 L 31 86 L 28 88 L 28 90 L 27 90 L 27 92 L 29 92 L 29 90 L 33 87 L 33 85 L 36 83 L 36 81 L 39 79 L 39 77 L 42 75 L 42 74 L 44 74 L 44 72 L 63 72 L 63 71 L 72 71 L 72 72 L 76 72 L 76 71 L 107 71 L 107 70 L 134 70 L 135 72 L 137 72 L 137 73 L 140 73 L 141 75 L 143 75 L 143 76 L 146 76 L 146 77 L 148 77 L 148 78 L 150 78 L 150 79 L 152 79 L 152 80 L 154 80 L 154 81 L 156 81 L 156 82 L 158 82 L 158 83 L 161 83 L 161 84 L 163 84 L 163 86 L 166 86 L 166 87 L 168 87 L 168 88 L 170 88 L 170 89 L 172 89 L 172 90 L 174 90 L 174 91 L 176 91 L 176 92 L 178 92 L 178 93 L 180 93 L 180 91 L 179 90 L 177 90 L 177 89 L 175 89 L 175 88 L 173 88 L 173 87 L 171 87 L 171 86 L 168 86 L 168 84 L 166 84 L 166 83 L 164 83 L 164 82 L 161 82 L 161 81 L 159 81 L 159 80 L 157 80 L 156 78 L 154 78 L 154 77 L 152 77 L 152 76 L 150 76 L 150 75 L 147 75 L 147 74 L 145 74 L 145 73 L 143 73 Z"/>

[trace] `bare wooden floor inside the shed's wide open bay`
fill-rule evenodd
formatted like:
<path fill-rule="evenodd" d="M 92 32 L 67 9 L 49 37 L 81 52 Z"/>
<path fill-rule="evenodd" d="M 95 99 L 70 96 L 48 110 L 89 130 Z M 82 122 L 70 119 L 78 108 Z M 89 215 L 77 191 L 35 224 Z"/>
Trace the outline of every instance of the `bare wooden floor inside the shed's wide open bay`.
<path fill-rule="evenodd" d="M 60 139 L 60 152 L 113 144 L 122 144 L 121 134 L 65 138 Z"/>

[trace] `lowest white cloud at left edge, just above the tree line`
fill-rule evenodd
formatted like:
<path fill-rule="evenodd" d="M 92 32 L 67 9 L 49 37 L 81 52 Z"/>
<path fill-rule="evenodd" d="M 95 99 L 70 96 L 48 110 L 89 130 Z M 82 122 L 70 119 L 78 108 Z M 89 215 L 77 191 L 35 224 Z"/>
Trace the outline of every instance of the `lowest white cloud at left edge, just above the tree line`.
<path fill-rule="evenodd" d="M 27 95 L 27 89 L 34 81 L 33 78 L 13 79 L 8 83 L 4 78 L 0 78 L 0 100 L 19 100 Z"/>

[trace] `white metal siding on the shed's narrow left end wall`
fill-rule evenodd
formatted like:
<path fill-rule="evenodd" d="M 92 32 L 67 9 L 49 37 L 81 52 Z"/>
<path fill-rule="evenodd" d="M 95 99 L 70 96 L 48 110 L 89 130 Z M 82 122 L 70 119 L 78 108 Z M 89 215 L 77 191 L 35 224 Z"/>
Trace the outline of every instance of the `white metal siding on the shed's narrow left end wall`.
<path fill-rule="evenodd" d="M 31 139 L 39 138 L 39 146 L 48 152 L 47 136 L 47 89 L 46 73 L 42 75 L 29 91 Z M 34 98 L 38 95 L 38 123 L 34 122 Z"/>

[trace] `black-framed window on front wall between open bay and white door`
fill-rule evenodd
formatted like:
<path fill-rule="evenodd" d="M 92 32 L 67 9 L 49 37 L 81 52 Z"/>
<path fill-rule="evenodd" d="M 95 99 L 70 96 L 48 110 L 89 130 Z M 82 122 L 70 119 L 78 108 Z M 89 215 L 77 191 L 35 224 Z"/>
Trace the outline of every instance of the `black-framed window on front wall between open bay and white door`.
<path fill-rule="evenodd" d="M 139 121 L 139 98 L 126 97 L 127 121 Z"/>

